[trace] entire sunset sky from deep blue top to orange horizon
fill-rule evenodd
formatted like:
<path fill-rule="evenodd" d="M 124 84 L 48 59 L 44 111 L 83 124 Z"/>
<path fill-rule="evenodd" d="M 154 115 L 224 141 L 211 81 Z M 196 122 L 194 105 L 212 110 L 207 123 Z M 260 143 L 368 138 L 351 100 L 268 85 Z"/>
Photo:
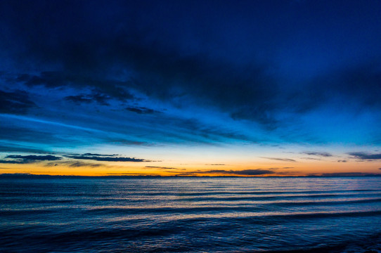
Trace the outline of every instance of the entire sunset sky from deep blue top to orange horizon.
<path fill-rule="evenodd" d="M 0 174 L 381 174 L 381 1 L 0 1 Z"/>

